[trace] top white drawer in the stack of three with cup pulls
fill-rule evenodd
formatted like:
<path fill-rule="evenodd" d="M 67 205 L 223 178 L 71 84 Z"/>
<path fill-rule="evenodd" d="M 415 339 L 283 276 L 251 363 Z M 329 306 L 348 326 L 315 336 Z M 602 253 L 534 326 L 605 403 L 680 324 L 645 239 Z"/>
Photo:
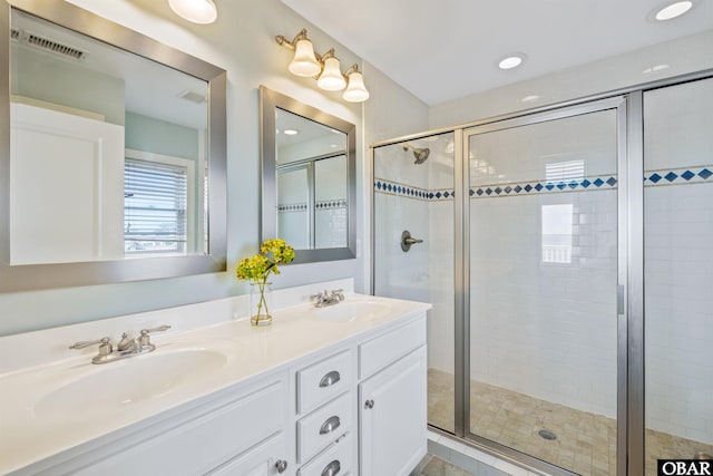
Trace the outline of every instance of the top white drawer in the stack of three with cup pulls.
<path fill-rule="evenodd" d="M 305 415 L 349 389 L 352 352 L 332 356 L 297 371 L 297 414 Z"/>

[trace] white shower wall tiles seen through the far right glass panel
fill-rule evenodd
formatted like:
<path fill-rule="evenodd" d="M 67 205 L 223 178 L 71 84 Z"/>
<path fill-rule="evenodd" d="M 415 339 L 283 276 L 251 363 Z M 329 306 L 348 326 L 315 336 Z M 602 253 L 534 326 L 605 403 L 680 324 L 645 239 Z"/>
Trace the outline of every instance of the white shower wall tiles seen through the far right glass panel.
<path fill-rule="evenodd" d="M 647 171 L 713 174 L 713 79 L 646 93 L 644 114 Z M 713 445 L 713 177 L 701 178 L 645 183 L 646 426 Z"/>

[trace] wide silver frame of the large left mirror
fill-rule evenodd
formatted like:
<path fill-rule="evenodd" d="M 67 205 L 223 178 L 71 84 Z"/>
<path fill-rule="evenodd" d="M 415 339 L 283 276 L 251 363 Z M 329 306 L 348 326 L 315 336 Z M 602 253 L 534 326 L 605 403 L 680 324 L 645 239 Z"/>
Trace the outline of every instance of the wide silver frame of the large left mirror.
<path fill-rule="evenodd" d="M 6 0 L 0 8 L 0 292 L 107 284 L 226 270 L 226 71 L 64 0 Z M 208 254 L 10 264 L 10 12 L 12 8 L 208 82 Z"/>

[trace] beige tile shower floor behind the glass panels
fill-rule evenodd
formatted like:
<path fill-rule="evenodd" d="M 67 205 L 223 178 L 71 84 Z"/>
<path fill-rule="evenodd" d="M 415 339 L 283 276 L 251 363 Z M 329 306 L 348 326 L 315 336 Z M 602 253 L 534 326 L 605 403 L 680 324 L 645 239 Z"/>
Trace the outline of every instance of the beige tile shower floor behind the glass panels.
<path fill-rule="evenodd" d="M 453 377 L 429 369 L 429 422 L 453 428 Z M 616 421 L 499 387 L 471 381 L 471 430 L 490 440 L 583 476 L 616 474 Z M 548 440 L 538 435 L 556 435 Z M 646 476 L 655 476 L 656 458 L 692 458 L 713 454 L 713 446 L 646 430 Z"/>

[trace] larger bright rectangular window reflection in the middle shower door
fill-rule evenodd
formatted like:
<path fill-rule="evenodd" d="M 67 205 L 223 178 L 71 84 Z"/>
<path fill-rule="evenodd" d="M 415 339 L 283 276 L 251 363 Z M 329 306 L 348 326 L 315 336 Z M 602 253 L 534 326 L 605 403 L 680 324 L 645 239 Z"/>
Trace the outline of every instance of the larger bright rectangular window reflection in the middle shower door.
<path fill-rule="evenodd" d="M 574 205 L 543 205 L 543 263 L 572 263 Z"/>

